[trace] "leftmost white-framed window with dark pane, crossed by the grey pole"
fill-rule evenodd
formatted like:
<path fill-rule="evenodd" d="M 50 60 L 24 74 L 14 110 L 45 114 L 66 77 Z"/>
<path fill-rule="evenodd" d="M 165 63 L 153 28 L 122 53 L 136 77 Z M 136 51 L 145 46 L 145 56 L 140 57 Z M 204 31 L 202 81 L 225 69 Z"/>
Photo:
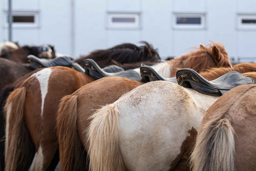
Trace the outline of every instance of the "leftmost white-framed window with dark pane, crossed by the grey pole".
<path fill-rule="evenodd" d="M 8 12 L 5 12 L 5 26 L 8 26 Z M 38 24 L 38 12 L 12 12 L 13 27 L 36 27 Z"/>

